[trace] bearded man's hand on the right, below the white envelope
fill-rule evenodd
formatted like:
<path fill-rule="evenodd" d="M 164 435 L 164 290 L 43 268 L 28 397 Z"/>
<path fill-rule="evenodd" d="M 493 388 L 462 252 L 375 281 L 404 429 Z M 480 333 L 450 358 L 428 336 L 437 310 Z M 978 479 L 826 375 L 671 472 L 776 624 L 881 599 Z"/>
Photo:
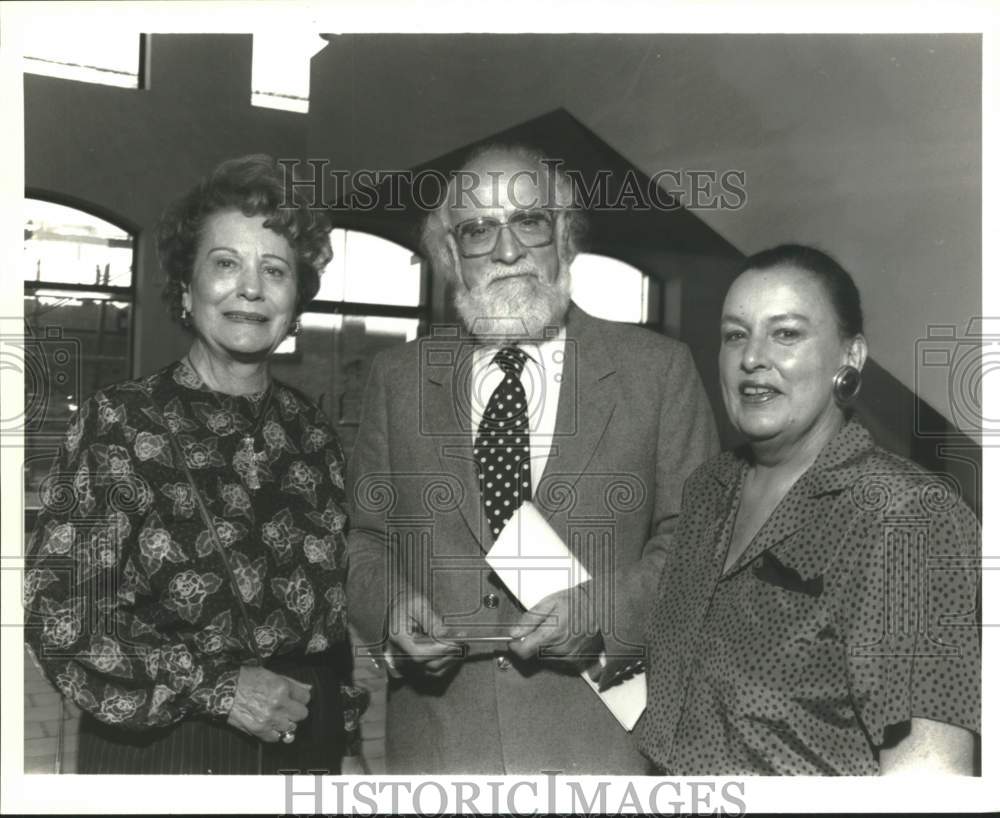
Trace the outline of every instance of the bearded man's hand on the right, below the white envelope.
<path fill-rule="evenodd" d="M 603 639 L 590 597 L 583 583 L 545 597 L 511 629 L 510 650 L 521 659 L 569 663 L 577 669 L 597 667 Z"/>

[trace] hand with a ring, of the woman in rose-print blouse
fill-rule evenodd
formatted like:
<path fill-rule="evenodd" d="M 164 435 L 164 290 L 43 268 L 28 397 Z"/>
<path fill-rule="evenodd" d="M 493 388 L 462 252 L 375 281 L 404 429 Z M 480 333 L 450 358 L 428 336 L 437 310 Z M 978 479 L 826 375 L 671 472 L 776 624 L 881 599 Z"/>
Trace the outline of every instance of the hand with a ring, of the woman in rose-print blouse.
<path fill-rule="evenodd" d="M 228 722 L 237 730 L 274 743 L 309 715 L 311 685 L 262 667 L 243 665 Z"/>

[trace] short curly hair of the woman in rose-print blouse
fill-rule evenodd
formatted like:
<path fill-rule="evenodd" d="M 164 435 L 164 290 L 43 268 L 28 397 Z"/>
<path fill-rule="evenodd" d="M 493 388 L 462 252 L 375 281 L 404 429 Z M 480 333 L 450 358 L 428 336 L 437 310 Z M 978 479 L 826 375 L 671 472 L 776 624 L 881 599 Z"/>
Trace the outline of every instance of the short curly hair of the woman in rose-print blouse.
<path fill-rule="evenodd" d="M 227 159 L 171 204 L 156 227 L 160 267 L 167 276 L 163 298 L 174 320 L 181 318 L 181 294 L 191 283 L 205 220 L 225 210 L 264 216 L 264 226 L 283 236 L 295 254 L 298 315 L 319 291 L 319 276 L 333 257 L 330 225 L 286 197 L 278 163 L 257 153 Z"/>

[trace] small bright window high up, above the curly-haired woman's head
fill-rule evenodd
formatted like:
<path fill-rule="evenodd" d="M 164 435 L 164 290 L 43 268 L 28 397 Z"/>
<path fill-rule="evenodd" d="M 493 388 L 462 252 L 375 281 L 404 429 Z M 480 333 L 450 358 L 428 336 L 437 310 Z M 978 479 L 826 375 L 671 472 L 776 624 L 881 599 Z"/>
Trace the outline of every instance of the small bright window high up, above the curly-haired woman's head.
<path fill-rule="evenodd" d="M 309 113 L 309 70 L 326 45 L 317 34 L 273 31 L 253 35 L 250 102 L 262 108 Z"/>

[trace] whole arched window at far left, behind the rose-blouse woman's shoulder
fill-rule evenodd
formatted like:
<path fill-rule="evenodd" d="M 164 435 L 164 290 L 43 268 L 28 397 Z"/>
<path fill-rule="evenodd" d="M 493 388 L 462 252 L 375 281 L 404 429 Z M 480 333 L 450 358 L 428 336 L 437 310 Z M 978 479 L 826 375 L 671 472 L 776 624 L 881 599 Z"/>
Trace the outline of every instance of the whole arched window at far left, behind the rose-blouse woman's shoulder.
<path fill-rule="evenodd" d="M 34 198 L 25 207 L 24 414 L 14 422 L 24 430 L 31 508 L 80 401 L 132 375 L 135 241 L 83 210 Z"/>

